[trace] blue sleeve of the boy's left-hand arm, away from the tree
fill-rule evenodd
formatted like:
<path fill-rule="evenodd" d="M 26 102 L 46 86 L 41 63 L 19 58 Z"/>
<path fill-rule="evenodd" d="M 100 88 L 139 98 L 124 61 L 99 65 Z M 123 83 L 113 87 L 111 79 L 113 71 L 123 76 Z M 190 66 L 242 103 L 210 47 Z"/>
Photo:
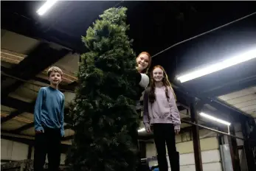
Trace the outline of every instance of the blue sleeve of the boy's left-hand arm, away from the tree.
<path fill-rule="evenodd" d="M 35 130 L 44 130 L 44 128 L 41 125 L 43 101 L 44 101 L 44 89 L 40 88 L 40 90 L 38 91 L 38 97 L 35 101 L 35 110 L 34 110 Z"/>

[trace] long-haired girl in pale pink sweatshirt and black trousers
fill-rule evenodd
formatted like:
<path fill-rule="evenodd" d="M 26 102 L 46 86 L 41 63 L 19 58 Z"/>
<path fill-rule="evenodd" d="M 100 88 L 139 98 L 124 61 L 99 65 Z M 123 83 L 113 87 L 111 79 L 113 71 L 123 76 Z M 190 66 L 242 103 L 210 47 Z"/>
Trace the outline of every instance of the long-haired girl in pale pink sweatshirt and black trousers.
<path fill-rule="evenodd" d="M 143 122 L 148 133 L 151 132 L 151 125 L 153 126 L 159 170 L 168 170 L 166 144 L 171 170 L 179 171 L 175 134 L 180 131 L 181 119 L 176 96 L 162 66 L 155 66 L 151 72 L 151 86 L 144 95 Z"/>

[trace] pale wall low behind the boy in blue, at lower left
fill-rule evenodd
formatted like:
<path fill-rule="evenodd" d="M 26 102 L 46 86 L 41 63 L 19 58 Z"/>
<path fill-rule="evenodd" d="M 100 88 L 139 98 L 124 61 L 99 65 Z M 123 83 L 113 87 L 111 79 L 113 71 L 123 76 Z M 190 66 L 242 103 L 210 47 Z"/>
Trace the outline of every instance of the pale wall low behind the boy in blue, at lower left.
<path fill-rule="evenodd" d="M 27 159 L 29 145 L 21 142 L 13 142 L 7 139 L 1 139 L 1 164 L 3 161 L 21 161 Z M 32 159 L 34 158 L 34 148 L 32 148 Z M 64 164 L 66 154 L 61 154 L 60 164 Z M 46 162 L 48 162 L 46 160 Z"/>

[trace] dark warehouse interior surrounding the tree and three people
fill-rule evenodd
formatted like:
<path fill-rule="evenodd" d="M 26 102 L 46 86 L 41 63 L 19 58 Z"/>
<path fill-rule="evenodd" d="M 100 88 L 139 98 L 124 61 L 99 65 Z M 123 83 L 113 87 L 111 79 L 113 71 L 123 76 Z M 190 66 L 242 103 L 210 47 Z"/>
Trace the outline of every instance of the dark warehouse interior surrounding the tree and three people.
<path fill-rule="evenodd" d="M 255 2 L 249 1 L 234 2 L 234 5 L 225 2 L 221 6 L 221 2 L 217 1 L 210 4 L 164 1 L 58 1 L 59 4 L 51 13 L 41 18 L 36 15 L 35 10 L 42 3 L 1 1 L 3 170 L 10 163 L 20 164 L 33 159 L 33 110 L 39 88 L 49 86 L 46 71 L 50 66 L 58 66 L 63 70 L 60 91 L 65 95 L 65 111 L 68 111 L 69 102 L 74 99 L 75 87 L 78 84 L 75 73 L 78 71 L 80 55 L 86 52 L 80 36 L 86 34 L 86 29 L 104 10 L 119 5 L 128 7 L 128 23 L 131 25 L 128 34 L 134 39 L 136 54 L 143 50 L 152 55 L 176 42 L 255 13 Z M 168 13 L 173 5 L 177 9 L 180 7 L 179 13 Z M 145 10 L 142 7 L 145 7 Z M 207 12 L 209 9 L 213 12 Z M 148 13 L 151 10 L 156 13 Z M 237 10 L 240 12 L 236 13 Z M 142 11 L 145 13 L 136 18 Z M 202 18 L 204 13 L 207 16 Z M 183 15 L 185 19 L 181 22 L 170 18 L 168 23 L 169 15 Z M 191 18 L 186 18 L 187 15 Z M 220 16 L 225 17 L 218 23 Z M 149 22 L 153 23 L 152 27 L 145 27 Z M 179 27 L 173 28 L 173 24 Z M 181 171 L 255 169 L 256 53 L 252 54 L 254 56 L 251 60 L 185 83 L 176 79 L 176 75 L 203 68 L 251 49 L 255 52 L 256 15 L 250 15 L 230 26 L 182 43 L 153 57 L 152 65 L 159 64 L 166 69 L 178 98 L 182 124 L 181 133 L 176 136 L 176 147 L 180 153 Z M 201 116 L 202 112 L 230 122 L 231 125 L 213 122 Z M 63 168 L 73 135 L 74 131 L 69 125 L 65 125 L 60 161 Z M 139 131 L 139 147 L 147 164 L 150 167 L 157 165 L 152 133 Z"/>

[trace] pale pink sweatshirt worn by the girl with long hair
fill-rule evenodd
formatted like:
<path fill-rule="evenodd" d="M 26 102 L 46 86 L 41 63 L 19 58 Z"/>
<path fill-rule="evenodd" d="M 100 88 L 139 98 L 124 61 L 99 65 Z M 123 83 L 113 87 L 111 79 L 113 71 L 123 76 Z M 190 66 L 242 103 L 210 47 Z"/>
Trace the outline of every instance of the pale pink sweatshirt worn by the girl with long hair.
<path fill-rule="evenodd" d="M 169 102 L 165 94 L 165 86 L 155 88 L 156 101 L 151 103 L 148 100 L 148 91 L 144 94 L 144 114 L 143 122 L 145 127 L 155 123 L 170 123 L 175 130 L 180 129 L 181 119 L 173 92 L 168 87 Z"/>

